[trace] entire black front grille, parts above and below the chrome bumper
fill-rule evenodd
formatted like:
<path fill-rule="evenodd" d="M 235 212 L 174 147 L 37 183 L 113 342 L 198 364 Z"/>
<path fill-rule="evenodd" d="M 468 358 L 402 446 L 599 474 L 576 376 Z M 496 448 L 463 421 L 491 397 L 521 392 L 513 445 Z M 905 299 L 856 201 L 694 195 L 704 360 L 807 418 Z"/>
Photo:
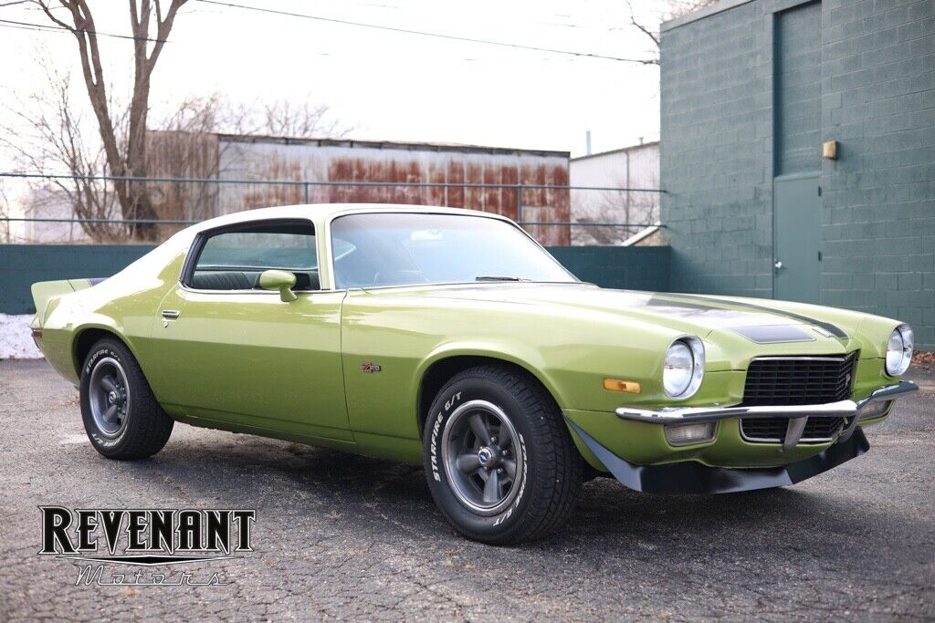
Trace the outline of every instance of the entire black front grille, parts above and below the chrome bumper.
<path fill-rule="evenodd" d="M 743 404 L 825 404 L 851 397 L 857 354 L 841 357 L 773 357 L 750 362 Z M 788 418 L 741 418 L 748 441 L 776 443 L 785 438 Z M 843 418 L 809 418 L 802 441 L 827 441 Z"/>

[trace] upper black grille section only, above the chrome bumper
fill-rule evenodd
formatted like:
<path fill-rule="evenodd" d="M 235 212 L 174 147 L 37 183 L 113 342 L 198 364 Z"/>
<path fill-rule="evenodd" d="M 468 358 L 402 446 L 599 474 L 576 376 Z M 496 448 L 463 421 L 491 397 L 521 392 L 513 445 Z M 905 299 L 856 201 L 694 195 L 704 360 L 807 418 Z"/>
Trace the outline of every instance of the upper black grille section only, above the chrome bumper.
<path fill-rule="evenodd" d="M 856 353 L 841 357 L 769 357 L 747 370 L 744 405 L 825 404 L 851 397 Z"/>

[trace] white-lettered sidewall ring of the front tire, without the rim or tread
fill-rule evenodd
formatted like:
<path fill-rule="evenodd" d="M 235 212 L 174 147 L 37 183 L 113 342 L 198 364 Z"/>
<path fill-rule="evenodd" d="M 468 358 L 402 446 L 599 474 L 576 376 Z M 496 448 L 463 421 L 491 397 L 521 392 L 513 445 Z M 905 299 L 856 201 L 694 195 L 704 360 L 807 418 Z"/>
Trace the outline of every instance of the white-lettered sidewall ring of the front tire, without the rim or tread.
<path fill-rule="evenodd" d="M 460 405 L 473 400 L 484 400 L 496 404 L 510 418 L 519 437 L 516 440 L 523 453 L 524 468 L 519 480 L 519 489 L 510 505 L 496 515 L 483 516 L 471 511 L 461 503 L 452 490 L 452 485 L 445 473 L 441 456 L 441 440 L 445 428 L 451 421 L 452 414 Z M 523 417 L 523 408 L 507 389 L 481 378 L 457 380 L 439 392 L 429 411 L 424 429 L 424 467 L 432 497 L 441 512 L 453 525 L 469 537 L 484 541 L 509 540 L 513 531 L 520 529 L 525 509 L 531 501 L 533 492 L 529 483 L 536 482 L 538 470 L 536 456 L 530 456 L 528 441 L 531 431 Z"/>

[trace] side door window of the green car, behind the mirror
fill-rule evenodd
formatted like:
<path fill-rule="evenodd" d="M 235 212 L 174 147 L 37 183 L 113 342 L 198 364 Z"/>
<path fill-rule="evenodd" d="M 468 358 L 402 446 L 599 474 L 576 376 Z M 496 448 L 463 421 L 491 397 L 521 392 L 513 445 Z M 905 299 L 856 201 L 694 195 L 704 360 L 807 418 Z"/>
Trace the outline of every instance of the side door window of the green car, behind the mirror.
<path fill-rule="evenodd" d="M 183 282 L 194 290 L 260 290 L 260 275 L 295 275 L 293 290 L 321 290 L 315 230 L 305 220 L 241 223 L 199 236 L 197 258 Z"/>

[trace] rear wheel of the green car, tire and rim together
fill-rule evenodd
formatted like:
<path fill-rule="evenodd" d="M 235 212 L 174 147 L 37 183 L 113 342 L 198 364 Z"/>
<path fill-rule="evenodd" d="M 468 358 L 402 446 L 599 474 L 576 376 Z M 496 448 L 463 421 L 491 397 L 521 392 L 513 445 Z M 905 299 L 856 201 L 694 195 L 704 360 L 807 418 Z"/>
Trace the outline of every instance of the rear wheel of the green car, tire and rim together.
<path fill-rule="evenodd" d="M 108 459 L 145 459 L 163 449 L 172 426 L 129 348 L 113 338 L 84 359 L 81 418 L 92 446 Z"/>

